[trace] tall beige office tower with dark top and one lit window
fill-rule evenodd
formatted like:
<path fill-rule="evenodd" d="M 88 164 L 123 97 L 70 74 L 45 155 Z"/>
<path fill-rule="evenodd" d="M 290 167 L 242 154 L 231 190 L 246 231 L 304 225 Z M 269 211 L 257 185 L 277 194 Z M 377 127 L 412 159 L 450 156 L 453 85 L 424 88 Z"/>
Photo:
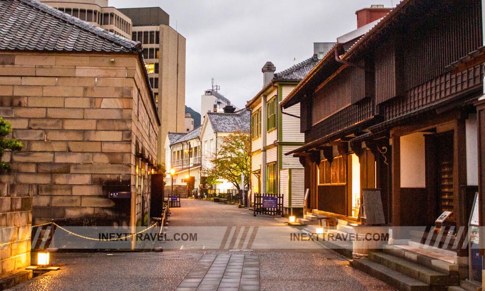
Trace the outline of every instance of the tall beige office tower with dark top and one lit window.
<path fill-rule="evenodd" d="M 132 40 L 143 45 L 145 62 L 162 126 L 158 135 L 157 162 L 165 161 L 167 133 L 185 132 L 185 37 L 169 26 L 160 7 L 120 11 L 133 23 Z"/>

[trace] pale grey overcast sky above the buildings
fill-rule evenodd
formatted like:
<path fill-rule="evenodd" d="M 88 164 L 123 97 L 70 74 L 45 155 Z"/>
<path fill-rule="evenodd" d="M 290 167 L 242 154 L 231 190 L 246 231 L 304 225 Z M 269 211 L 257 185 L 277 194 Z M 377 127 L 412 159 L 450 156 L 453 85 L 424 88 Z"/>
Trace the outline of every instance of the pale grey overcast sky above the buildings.
<path fill-rule="evenodd" d="M 185 103 L 200 112 L 211 88 L 238 108 L 262 88 L 261 68 L 276 72 L 313 54 L 314 42 L 335 42 L 357 28 L 356 10 L 397 0 L 109 0 L 116 8 L 160 6 L 187 39 Z M 135 6 L 133 6 L 135 5 Z"/>

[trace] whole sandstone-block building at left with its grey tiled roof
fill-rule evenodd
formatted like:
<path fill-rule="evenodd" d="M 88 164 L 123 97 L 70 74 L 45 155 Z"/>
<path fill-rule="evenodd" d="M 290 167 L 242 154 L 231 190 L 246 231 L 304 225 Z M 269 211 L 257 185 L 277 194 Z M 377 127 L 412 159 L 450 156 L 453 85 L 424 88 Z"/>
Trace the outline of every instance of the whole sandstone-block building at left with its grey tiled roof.
<path fill-rule="evenodd" d="M 146 223 L 160 120 L 139 43 L 36 0 L 0 11 L 0 116 L 24 145 L 0 175 L 6 273 L 30 264 L 31 223 Z"/>

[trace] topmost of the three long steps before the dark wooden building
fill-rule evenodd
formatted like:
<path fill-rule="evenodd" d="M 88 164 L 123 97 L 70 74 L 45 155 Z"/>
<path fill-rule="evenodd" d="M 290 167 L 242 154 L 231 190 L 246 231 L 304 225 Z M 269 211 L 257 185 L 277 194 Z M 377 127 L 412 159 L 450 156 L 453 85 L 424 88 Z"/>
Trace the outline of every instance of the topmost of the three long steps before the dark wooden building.
<path fill-rule="evenodd" d="M 415 262 L 422 266 L 428 267 L 438 272 L 442 272 L 447 275 L 459 275 L 461 266 L 446 262 L 444 260 L 431 258 L 425 255 L 415 253 L 411 250 L 400 248 L 390 244 L 384 244 L 382 251 L 384 253 L 406 259 L 411 262 Z"/>

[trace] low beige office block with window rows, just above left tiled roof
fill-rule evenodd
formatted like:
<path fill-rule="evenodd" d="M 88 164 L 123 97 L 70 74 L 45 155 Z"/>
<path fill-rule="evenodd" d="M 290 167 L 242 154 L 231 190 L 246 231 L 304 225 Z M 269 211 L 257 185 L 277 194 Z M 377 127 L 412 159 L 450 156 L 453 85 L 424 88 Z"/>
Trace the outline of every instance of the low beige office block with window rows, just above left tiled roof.
<path fill-rule="evenodd" d="M 118 9 L 108 7 L 108 0 L 41 0 L 41 2 L 109 32 L 131 38 L 131 19 Z"/>

